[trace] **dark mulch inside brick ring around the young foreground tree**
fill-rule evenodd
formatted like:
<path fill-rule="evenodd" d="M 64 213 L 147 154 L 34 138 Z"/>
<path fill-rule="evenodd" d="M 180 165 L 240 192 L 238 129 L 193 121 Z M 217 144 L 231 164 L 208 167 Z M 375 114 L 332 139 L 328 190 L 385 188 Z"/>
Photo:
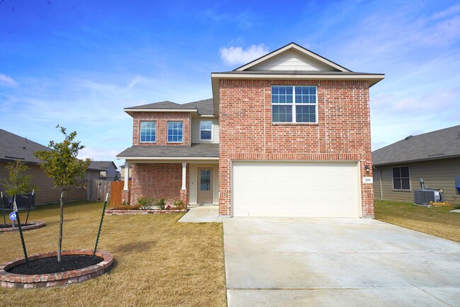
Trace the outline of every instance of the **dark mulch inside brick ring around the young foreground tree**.
<path fill-rule="evenodd" d="M 29 262 L 29 268 L 25 263 L 11 267 L 6 272 L 14 274 L 48 274 L 71 271 L 97 265 L 103 258 L 92 255 L 66 255 L 62 256 L 61 262 L 57 262 L 57 256 L 47 257 Z"/>

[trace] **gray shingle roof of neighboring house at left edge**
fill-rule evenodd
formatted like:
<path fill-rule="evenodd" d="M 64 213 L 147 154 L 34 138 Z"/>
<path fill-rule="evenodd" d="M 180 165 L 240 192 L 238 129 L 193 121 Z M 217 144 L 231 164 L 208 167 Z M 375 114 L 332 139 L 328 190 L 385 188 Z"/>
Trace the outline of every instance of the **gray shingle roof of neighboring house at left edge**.
<path fill-rule="evenodd" d="M 0 129 L 0 160 L 14 161 L 16 159 L 28 163 L 38 163 L 33 156 L 35 151 L 51 150 L 47 146 L 35 143 L 24 137 Z"/>

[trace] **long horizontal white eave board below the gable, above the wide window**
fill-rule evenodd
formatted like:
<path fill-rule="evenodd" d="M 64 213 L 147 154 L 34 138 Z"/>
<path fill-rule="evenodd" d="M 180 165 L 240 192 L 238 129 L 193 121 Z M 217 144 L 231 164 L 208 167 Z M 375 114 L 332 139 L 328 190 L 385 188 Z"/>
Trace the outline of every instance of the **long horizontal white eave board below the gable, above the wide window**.
<path fill-rule="evenodd" d="M 213 79 L 307 79 L 307 80 L 367 80 L 369 87 L 385 79 L 384 74 L 367 74 L 367 75 L 335 75 L 335 74 L 211 74 Z M 218 82 L 217 82 L 218 83 Z"/>

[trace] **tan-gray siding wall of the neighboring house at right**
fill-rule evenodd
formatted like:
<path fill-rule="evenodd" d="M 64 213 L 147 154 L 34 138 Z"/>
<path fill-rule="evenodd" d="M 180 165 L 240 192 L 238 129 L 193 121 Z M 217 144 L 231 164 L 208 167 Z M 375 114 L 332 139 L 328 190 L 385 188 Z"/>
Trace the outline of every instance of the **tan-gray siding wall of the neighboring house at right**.
<path fill-rule="evenodd" d="M 393 167 L 409 166 L 410 191 L 393 190 Z M 380 194 L 380 174 L 381 190 Z M 460 204 L 460 195 L 455 189 L 455 176 L 460 175 L 460 158 L 449 158 L 415 163 L 401 163 L 391 166 L 376 166 L 374 169 L 374 198 L 413 202 L 413 190 L 420 189 L 419 179 L 423 178 L 427 187 L 443 188 L 445 200 Z"/>

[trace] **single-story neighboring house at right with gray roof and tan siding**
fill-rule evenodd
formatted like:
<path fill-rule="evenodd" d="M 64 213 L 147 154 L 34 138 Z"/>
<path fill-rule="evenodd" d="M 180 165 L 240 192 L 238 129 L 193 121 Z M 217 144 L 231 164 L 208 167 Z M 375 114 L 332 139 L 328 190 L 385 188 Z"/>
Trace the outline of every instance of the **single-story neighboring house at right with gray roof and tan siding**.
<path fill-rule="evenodd" d="M 444 199 L 460 204 L 456 176 L 460 176 L 460 125 L 406 137 L 372 152 L 375 199 L 413 202 L 420 178 Z"/>

